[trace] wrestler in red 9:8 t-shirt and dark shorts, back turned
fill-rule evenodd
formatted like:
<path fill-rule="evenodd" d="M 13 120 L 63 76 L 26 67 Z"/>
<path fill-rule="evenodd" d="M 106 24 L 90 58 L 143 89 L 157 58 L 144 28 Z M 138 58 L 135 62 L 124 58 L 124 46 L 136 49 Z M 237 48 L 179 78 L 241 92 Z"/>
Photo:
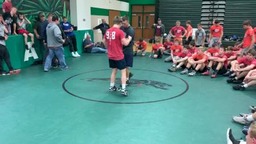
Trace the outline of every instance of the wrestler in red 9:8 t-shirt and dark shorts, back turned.
<path fill-rule="evenodd" d="M 123 45 L 127 46 L 132 40 L 131 36 L 125 38 L 124 32 L 120 30 L 122 26 L 122 18 L 116 16 L 114 18 L 114 26 L 108 29 L 103 38 L 103 44 L 108 47 L 108 58 L 109 67 L 112 68 L 111 80 L 109 91 L 120 91 L 119 88 L 115 86 L 116 72 L 117 69 L 122 72 L 122 90 L 121 93 L 124 96 L 128 96 L 126 85 L 126 63 L 124 60 Z"/>

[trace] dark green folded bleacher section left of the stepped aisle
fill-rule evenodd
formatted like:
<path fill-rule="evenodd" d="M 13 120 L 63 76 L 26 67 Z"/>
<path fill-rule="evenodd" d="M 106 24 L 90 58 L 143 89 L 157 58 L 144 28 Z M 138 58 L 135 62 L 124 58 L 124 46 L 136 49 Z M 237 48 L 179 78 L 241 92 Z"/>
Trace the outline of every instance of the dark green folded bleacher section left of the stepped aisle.
<path fill-rule="evenodd" d="M 165 26 L 166 33 L 180 20 L 185 26 L 186 20 L 191 20 L 193 28 L 200 22 L 202 0 L 159 0 L 159 17 Z"/>

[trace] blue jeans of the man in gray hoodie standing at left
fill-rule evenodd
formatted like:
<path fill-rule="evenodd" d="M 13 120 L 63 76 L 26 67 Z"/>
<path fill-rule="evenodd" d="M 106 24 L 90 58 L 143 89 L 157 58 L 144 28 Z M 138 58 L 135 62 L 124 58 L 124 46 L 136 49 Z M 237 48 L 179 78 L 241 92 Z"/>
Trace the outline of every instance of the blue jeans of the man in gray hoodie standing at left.
<path fill-rule="evenodd" d="M 61 68 L 67 68 L 67 65 L 65 63 L 65 57 L 64 57 L 64 49 L 62 46 L 60 46 L 55 49 L 49 49 L 49 54 L 46 57 L 45 64 L 44 64 L 44 70 L 49 70 L 51 68 L 52 58 L 54 56 L 57 56 L 60 62 Z"/>

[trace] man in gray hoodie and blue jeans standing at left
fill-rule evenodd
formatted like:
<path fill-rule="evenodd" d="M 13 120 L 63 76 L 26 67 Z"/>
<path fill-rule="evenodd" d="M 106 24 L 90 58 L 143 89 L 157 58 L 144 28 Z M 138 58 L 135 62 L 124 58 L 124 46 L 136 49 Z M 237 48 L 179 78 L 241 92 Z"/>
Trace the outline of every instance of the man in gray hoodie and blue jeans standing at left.
<path fill-rule="evenodd" d="M 57 56 L 61 70 L 70 70 L 65 63 L 63 40 L 60 28 L 57 26 L 60 24 L 60 19 L 58 16 L 52 17 L 52 22 L 47 25 L 46 35 L 47 35 L 47 48 L 49 49 L 49 54 L 45 60 L 44 71 L 48 72 L 51 68 L 52 58 Z"/>

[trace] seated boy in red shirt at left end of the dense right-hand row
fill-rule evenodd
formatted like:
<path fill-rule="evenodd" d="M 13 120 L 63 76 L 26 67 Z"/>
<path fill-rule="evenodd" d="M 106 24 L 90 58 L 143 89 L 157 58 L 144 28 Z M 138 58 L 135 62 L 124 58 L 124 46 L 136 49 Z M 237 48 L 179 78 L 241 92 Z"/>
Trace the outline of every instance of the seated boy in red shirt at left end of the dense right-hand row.
<path fill-rule="evenodd" d="M 180 52 L 182 51 L 182 46 L 180 45 L 180 42 L 178 39 L 174 40 L 174 45 L 172 45 L 170 50 L 171 50 L 171 55 L 164 60 L 165 62 L 173 61 L 175 56 L 179 55 Z"/>

